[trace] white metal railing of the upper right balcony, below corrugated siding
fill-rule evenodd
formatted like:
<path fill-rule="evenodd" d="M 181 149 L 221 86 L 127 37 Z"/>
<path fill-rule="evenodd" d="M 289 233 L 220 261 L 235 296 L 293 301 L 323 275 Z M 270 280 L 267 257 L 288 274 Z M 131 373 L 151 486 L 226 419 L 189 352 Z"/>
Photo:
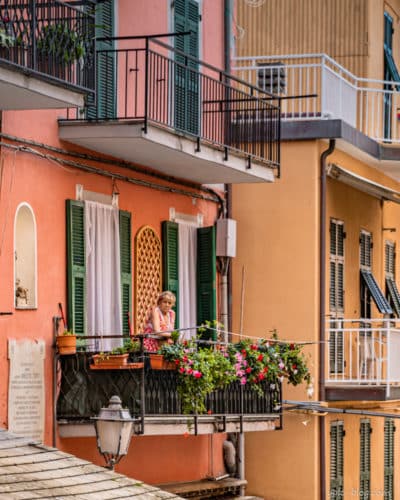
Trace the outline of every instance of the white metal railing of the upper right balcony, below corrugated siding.
<path fill-rule="evenodd" d="M 400 143 L 400 84 L 358 78 L 326 54 L 236 57 L 232 72 L 267 92 L 303 96 L 281 101 L 283 121 L 338 118 L 379 142 Z"/>

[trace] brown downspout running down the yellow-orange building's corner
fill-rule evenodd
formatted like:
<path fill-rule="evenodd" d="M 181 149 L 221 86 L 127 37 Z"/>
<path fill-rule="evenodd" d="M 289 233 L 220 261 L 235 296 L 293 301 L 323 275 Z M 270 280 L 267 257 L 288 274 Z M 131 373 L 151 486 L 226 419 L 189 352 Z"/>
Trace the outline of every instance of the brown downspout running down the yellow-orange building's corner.
<path fill-rule="evenodd" d="M 335 150 L 336 141 L 330 139 L 328 149 L 320 157 L 320 220 L 319 220 L 319 386 L 318 399 L 325 401 L 325 298 L 326 298 L 326 159 Z M 320 498 L 326 499 L 325 478 L 325 418 L 318 419 L 319 423 L 319 481 Z"/>

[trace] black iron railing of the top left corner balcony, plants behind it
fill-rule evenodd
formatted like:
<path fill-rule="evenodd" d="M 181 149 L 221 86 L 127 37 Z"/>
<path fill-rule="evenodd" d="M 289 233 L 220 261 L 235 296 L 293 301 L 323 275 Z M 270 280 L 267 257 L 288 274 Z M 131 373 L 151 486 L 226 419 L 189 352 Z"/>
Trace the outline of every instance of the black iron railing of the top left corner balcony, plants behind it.
<path fill-rule="evenodd" d="M 0 0 L 0 63 L 93 91 L 95 21 L 90 4 Z"/>

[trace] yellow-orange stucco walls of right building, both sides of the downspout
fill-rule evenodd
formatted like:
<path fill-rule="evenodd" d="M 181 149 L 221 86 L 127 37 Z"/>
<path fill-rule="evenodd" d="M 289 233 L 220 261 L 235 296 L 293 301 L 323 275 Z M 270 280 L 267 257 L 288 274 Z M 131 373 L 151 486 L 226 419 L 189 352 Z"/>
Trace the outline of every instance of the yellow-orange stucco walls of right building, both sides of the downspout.
<path fill-rule="evenodd" d="M 319 382 L 319 171 L 320 154 L 326 148 L 326 142 L 318 141 L 284 143 L 280 180 L 270 185 L 234 186 L 232 193 L 233 217 L 238 221 L 238 253 L 233 263 L 233 331 L 239 330 L 243 313 L 243 332 L 247 335 L 265 337 L 276 328 L 281 338 L 315 342 L 306 348 L 311 356 L 315 399 L 318 399 Z M 400 189 L 382 172 L 338 148 L 328 157 L 328 163 L 331 162 L 376 183 Z M 345 224 L 345 317 L 357 318 L 360 315 L 360 230 L 372 233 L 373 273 L 384 290 L 384 243 L 390 239 L 397 248 L 400 244 L 400 206 L 327 179 L 326 315 L 329 315 L 331 217 Z M 384 227 L 395 228 L 395 231 L 383 231 Z M 372 314 L 381 317 L 374 305 Z M 285 386 L 283 398 L 306 401 L 304 386 Z M 330 418 L 334 417 L 326 417 L 325 427 L 327 495 Z M 359 488 L 359 417 L 347 418 L 344 498 L 350 499 L 353 488 L 357 491 Z M 383 479 L 383 419 L 373 420 L 371 488 L 378 491 Z M 248 491 L 279 500 L 320 498 L 318 450 L 318 417 L 310 414 L 285 412 L 282 432 L 246 434 Z M 399 480 L 397 474 L 396 484 Z"/>

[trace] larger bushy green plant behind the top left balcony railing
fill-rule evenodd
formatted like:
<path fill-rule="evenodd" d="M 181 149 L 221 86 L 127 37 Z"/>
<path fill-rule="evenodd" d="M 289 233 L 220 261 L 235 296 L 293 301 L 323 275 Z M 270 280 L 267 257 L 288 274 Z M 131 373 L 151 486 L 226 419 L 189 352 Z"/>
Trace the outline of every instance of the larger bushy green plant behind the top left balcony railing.
<path fill-rule="evenodd" d="M 37 50 L 44 57 L 54 57 L 66 64 L 78 61 L 82 65 L 86 54 L 82 35 L 67 23 L 44 25 L 37 39 Z"/>

